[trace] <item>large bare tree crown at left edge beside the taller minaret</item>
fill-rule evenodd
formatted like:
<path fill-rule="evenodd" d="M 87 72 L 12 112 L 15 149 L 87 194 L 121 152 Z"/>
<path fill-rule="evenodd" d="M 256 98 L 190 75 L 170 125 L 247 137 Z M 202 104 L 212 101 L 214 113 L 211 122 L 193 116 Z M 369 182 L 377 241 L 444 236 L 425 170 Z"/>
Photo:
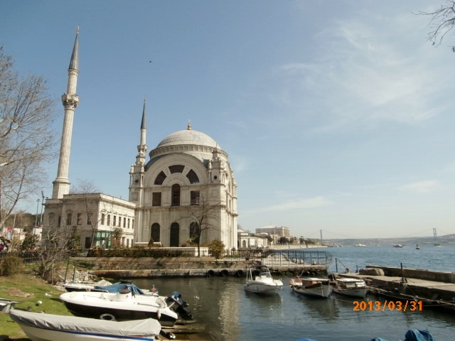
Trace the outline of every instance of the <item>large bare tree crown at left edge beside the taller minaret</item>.
<path fill-rule="evenodd" d="M 56 156 L 54 104 L 43 77 L 20 78 L 0 47 L 0 229 L 20 200 L 43 188 L 43 163 Z"/>

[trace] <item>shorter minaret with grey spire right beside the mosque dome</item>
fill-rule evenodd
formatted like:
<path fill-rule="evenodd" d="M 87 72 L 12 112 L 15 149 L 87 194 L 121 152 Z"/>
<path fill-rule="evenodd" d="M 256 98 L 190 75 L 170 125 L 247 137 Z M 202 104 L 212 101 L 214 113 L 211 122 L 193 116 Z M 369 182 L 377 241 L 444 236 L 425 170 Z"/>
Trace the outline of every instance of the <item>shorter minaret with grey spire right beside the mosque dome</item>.
<path fill-rule="evenodd" d="M 140 205 L 142 196 L 144 195 L 144 173 L 145 173 L 145 158 L 147 152 L 146 145 L 146 114 L 145 114 L 145 99 L 144 109 L 142 109 L 142 120 L 141 120 L 141 138 L 139 146 L 137 146 L 136 162 L 132 164 L 131 170 L 129 171 L 129 201 L 135 202 Z"/>

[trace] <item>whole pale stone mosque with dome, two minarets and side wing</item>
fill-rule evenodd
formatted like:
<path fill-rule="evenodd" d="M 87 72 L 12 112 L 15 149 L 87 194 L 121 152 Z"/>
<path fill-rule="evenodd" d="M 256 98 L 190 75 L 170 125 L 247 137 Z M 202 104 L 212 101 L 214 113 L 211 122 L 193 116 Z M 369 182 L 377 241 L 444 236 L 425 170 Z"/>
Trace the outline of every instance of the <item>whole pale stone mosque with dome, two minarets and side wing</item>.
<path fill-rule="evenodd" d="M 104 193 L 70 193 L 71 136 L 79 75 L 77 29 L 62 96 L 63 133 L 53 194 L 44 202 L 43 234 L 80 236 L 82 248 L 208 245 L 214 239 L 237 248 L 237 183 L 228 153 L 210 136 L 191 129 L 164 137 L 149 152 L 146 102 L 136 161 L 129 169 L 129 200 Z M 139 118 L 139 115 L 138 115 Z M 139 120 L 138 120 L 139 123 Z M 138 124 L 139 125 L 139 124 Z M 127 181 L 125 181 L 125 185 Z"/>

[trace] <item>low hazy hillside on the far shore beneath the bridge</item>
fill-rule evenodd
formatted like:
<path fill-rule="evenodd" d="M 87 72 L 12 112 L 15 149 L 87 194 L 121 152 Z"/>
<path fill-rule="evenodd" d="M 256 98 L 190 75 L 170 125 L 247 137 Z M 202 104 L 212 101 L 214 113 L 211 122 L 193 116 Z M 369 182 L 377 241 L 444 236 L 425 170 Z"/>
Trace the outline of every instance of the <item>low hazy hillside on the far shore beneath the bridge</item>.
<path fill-rule="evenodd" d="M 455 234 L 446 234 L 437 237 L 438 244 L 455 244 Z M 371 239 L 323 239 L 323 243 L 331 243 L 343 246 L 355 246 L 356 244 L 365 245 L 394 245 L 402 244 L 405 246 L 414 246 L 415 244 L 433 244 L 433 237 L 405 237 L 405 238 L 371 238 Z"/>

